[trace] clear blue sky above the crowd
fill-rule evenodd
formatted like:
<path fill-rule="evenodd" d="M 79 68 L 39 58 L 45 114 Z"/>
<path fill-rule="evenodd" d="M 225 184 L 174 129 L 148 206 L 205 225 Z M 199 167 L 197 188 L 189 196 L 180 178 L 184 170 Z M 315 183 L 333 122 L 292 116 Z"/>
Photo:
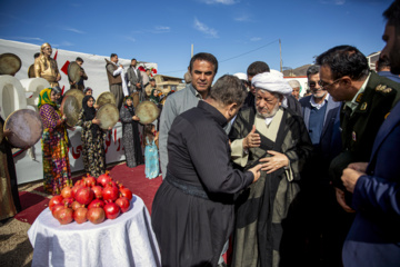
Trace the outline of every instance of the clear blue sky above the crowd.
<path fill-rule="evenodd" d="M 256 61 L 280 68 L 312 63 L 338 44 L 366 56 L 384 43 L 382 12 L 392 0 L 1 0 L 0 38 L 156 62 L 183 77 L 194 53 L 211 52 L 218 77 Z"/>

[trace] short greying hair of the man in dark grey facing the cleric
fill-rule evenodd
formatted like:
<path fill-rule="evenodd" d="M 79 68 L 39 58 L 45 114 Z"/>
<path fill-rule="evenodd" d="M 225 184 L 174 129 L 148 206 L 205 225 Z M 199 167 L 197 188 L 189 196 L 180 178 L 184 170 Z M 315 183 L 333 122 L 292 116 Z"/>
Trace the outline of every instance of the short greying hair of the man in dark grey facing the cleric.
<path fill-rule="evenodd" d="M 224 75 L 211 87 L 209 96 L 223 106 L 231 103 L 241 106 L 247 97 L 247 91 L 243 90 L 238 77 Z"/>

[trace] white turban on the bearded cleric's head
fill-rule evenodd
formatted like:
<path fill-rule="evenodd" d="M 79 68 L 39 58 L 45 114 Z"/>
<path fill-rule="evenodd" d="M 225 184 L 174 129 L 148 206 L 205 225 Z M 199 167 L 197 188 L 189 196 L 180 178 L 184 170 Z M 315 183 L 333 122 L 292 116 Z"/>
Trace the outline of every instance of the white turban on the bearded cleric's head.
<path fill-rule="evenodd" d="M 277 70 L 271 70 L 271 72 L 262 72 L 254 76 L 251 80 L 251 83 L 256 88 L 260 88 L 270 92 L 278 92 L 283 96 L 290 95 L 293 90 L 283 79 L 283 75 Z"/>

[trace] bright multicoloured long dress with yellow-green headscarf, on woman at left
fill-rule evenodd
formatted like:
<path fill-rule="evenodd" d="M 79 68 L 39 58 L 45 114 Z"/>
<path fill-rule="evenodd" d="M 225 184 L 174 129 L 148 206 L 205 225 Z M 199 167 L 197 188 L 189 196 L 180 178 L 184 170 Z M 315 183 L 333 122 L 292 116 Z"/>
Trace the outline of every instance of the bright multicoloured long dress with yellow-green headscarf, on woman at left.
<path fill-rule="evenodd" d="M 42 156 L 44 191 L 58 195 L 64 185 L 72 185 L 71 168 L 68 157 L 67 129 L 61 120 L 61 112 L 50 99 L 51 88 L 39 95 L 39 112 L 43 122 Z"/>

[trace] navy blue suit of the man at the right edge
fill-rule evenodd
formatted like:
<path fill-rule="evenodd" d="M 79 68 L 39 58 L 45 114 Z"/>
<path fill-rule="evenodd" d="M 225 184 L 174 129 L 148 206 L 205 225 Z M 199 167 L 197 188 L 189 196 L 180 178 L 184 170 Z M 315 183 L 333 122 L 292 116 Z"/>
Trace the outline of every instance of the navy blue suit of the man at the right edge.
<path fill-rule="evenodd" d="M 400 103 L 380 127 L 367 176 L 356 184 L 357 215 L 343 246 L 344 266 L 400 265 Z"/>

